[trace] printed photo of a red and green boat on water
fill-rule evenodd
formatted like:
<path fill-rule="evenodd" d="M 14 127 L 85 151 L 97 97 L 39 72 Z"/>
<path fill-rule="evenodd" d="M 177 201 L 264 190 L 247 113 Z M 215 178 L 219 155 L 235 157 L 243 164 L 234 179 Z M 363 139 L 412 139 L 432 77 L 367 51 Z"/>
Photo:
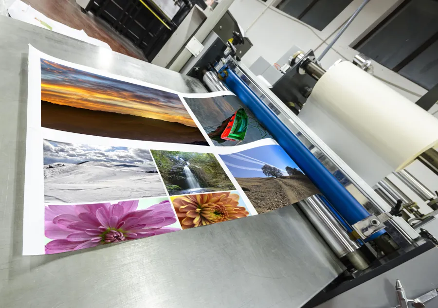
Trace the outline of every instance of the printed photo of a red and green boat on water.
<path fill-rule="evenodd" d="M 244 145 L 272 136 L 235 95 L 184 98 L 214 145 Z"/>

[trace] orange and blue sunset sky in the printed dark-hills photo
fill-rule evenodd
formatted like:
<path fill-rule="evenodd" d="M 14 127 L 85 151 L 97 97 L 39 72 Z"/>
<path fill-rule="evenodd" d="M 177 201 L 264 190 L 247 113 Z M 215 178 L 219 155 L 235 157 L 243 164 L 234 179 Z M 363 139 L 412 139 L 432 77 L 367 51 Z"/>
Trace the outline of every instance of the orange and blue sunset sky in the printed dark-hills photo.
<path fill-rule="evenodd" d="M 177 94 L 41 59 L 41 100 L 196 127 Z"/>

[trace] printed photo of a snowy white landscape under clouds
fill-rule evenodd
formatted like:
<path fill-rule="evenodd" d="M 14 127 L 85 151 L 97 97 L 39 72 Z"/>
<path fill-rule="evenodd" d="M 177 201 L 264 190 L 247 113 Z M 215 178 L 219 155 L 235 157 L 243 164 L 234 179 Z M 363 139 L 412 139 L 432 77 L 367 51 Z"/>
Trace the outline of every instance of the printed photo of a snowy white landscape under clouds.
<path fill-rule="evenodd" d="M 149 150 L 44 140 L 44 200 L 93 202 L 165 196 Z"/>

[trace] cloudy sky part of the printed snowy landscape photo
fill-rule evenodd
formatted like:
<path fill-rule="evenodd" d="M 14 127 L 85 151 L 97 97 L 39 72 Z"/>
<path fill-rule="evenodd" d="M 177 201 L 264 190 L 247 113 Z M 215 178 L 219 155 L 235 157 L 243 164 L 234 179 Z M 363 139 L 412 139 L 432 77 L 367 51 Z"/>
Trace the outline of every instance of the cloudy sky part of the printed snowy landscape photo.
<path fill-rule="evenodd" d="M 105 162 L 155 167 L 149 150 L 125 146 L 82 145 L 44 139 L 44 164 Z"/>

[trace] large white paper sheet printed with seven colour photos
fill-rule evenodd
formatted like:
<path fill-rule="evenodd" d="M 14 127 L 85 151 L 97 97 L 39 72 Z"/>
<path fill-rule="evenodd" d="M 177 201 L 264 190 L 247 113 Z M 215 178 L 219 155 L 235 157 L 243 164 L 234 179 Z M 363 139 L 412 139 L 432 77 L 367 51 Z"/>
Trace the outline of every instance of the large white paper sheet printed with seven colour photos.
<path fill-rule="evenodd" d="M 249 217 L 318 193 L 231 92 L 179 93 L 30 46 L 23 254 Z"/>

